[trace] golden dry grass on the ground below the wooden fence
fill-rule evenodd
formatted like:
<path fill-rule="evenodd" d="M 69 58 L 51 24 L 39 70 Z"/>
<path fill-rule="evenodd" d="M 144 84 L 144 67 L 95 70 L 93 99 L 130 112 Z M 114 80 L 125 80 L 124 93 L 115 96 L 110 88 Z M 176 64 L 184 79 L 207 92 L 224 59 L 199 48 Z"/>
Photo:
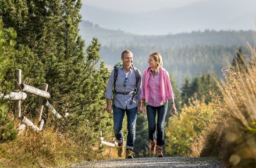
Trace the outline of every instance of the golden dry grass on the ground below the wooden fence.
<path fill-rule="evenodd" d="M 106 157 L 97 144 L 78 144 L 47 126 L 40 133 L 26 129 L 15 141 L 0 144 L 0 167 L 62 167 Z"/>

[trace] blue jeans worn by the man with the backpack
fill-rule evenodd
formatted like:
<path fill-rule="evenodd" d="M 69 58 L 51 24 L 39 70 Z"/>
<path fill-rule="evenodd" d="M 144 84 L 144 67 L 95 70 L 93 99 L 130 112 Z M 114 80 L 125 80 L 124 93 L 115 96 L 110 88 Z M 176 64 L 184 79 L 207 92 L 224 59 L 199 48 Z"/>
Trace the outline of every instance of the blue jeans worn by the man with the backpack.
<path fill-rule="evenodd" d="M 134 139 L 135 139 L 135 125 L 136 125 L 136 118 L 137 118 L 137 107 L 131 109 L 122 109 L 113 105 L 113 121 L 114 121 L 114 133 L 116 136 L 116 140 L 118 143 L 123 142 L 123 117 L 127 116 L 127 149 L 133 149 L 134 146 Z"/>

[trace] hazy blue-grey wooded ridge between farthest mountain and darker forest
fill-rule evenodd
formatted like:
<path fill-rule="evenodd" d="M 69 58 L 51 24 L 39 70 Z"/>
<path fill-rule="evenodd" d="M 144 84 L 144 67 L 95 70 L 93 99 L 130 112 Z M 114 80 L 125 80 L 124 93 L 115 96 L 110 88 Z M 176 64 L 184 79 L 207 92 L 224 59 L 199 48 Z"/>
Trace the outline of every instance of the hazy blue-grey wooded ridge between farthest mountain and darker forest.
<path fill-rule="evenodd" d="M 154 46 L 155 48 L 174 49 L 185 46 L 244 46 L 247 42 L 255 45 L 255 31 L 193 31 L 190 33 L 168 34 L 168 35 L 136 35 L 121 30 L 109 30 L 101 28 L 98 24 L 82 20 L 80 35 L 86 42 L 97 37 L 102 46 L 126 47 Z"/>

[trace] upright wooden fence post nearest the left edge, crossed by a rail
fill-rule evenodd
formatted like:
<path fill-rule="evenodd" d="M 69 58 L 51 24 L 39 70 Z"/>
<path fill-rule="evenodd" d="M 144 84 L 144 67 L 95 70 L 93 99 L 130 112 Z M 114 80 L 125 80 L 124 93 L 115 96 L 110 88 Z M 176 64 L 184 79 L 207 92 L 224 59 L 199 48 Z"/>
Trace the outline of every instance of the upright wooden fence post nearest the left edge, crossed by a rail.
<path fill-rule="evenodd" d="M 22 70 L 16 69 L 15 70 L 15 92 L 20 91 L 20 85 L 22 84 Z M 15 101 L 15 113 L 20 118 L 22 116 L 22 101 L 16 100 Z"/>

